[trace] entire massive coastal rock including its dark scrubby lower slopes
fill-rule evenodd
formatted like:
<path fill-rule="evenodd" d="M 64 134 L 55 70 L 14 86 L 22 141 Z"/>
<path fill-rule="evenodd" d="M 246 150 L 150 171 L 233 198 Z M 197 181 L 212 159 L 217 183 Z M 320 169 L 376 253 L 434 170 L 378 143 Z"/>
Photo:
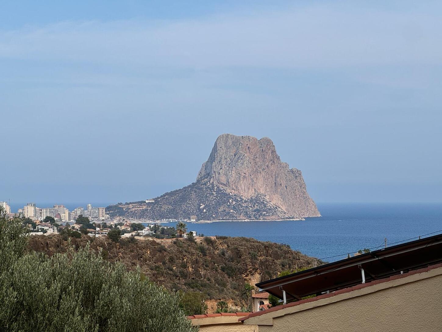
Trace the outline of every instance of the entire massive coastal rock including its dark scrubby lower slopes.
<path fill-rule="evenodd" d="M 301 171 L 281 162 L 271 139 L 223 134 L 191 185 L 155 201 L 107 207 L 111 216 L 272 220 L 320 216 Z"/>

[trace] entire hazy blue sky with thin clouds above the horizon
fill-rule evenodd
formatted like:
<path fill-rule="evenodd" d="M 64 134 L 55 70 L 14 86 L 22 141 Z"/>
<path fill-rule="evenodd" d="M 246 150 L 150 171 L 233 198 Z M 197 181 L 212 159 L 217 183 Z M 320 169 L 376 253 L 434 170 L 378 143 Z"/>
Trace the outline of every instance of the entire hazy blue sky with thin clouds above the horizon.
<path fill-rule="evenodd" d="M 229 132 L 318 202 L 441 201 L 441 7 L 2 1 L 0 200 L 155 197 Z"/>

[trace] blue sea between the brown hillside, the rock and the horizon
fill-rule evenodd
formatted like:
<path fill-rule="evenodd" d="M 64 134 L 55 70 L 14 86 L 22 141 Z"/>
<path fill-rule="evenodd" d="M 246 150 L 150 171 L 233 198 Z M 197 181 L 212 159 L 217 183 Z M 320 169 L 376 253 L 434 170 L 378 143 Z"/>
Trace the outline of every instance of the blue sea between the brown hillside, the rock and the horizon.
<path fill-rule="evenodd" d="M 286 243 L 294 250 L 343 259 L 347 253 L 442 231 L 442 204 L 319 204 L 322 217 L 305 221 L 226 221 L 187 224 L 204 235 L 246 236 Z M 173 226 L 173 223 L 168 223 Z"/>

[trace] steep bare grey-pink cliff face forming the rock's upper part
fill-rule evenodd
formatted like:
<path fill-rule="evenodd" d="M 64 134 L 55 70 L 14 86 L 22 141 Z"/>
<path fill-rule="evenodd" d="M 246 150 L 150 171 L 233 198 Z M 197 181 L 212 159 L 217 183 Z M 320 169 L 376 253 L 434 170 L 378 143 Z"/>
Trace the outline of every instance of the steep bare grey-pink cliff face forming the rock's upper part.
<path fill-rule="evenodd" d="M 301 171 L 281 162 L 267 137 L 219 136 L 198 173 L 197 181 L 202 179 L 245 198 L 263 194 L 292 217 L 320 215 Z"/>

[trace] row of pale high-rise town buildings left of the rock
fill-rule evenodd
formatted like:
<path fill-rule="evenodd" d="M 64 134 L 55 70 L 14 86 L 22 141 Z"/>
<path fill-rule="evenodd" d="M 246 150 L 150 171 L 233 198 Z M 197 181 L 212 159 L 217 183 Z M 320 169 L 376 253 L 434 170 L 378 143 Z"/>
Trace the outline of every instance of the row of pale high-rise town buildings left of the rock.
<path fill-rule="evenodd" d="M 0 206 L 8 214 L 11 214 L 11 207 L 8 202 L 0 202 Z M 110 220 L 110 217 L 106 214 L 106 208 L 97 208 L 91 204 L 88 204 L 86 208 L 78 207 L 73 211 L 69 211 L 64 205 L 54 205 L 52 208 L 39 208 L 35 203 L 27 203 L 23 208 L 19 208 L 17 213 L 31 220 L 43 220 L 47 216 L 59 221 L 75 220 L 78 216 L 88 217 L 90 220 Z"/>

